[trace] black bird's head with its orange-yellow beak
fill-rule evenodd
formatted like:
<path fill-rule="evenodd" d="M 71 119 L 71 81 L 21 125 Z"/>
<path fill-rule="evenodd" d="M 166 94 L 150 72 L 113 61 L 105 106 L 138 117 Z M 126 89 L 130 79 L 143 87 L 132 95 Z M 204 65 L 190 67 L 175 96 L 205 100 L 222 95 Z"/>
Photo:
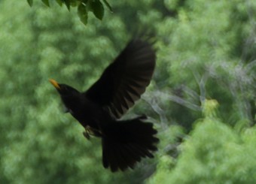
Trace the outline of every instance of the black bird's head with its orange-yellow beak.
<path fill-rule="evenodd" d="M 56 88 L 59 92 L 59 95 L 62 97 L 77 95 L 78 90 L 72 88 L 72 86 L 68 86 L 66 84 L 57 83 L 56 80 L 50 79 L 50 83 Z"/>

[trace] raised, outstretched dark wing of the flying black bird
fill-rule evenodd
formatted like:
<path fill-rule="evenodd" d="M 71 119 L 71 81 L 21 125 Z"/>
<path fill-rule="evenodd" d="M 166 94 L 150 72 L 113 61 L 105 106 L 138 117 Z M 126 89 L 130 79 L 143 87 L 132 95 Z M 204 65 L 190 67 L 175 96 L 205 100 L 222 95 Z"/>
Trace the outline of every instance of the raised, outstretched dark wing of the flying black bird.
<path fill-rule="evenodd" d="M 84 95 L 108 107 L 116 118 L 120 118 L 140 98 L 151 81 L 156 54 L 149 40 L 134 38 L 130 41 Z"/>

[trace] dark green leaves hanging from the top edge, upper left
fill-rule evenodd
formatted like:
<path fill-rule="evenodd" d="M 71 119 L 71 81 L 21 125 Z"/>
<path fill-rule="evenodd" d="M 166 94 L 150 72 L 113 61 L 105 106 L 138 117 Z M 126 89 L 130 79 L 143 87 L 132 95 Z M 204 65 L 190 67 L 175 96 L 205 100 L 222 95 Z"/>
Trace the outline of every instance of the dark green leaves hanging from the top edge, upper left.
<path fill-rule="evenodd" d="M 49 0 L 41 0 L 44 5 L 50 8 Z M 33 0 L 27 0 L 29 6 L 32 7 Z M 111 6 L 108 4 L 106 0 L 56 0 L 59 6 L 63 4 L 66 5 L 66 8 L 70 11 L 71 7 L 76 7 L 78 9 L 78 17 L 84 25 L 87 25 L 88 13 L 89 11 L 93 12 L 94 16 L 99 20 L 103 19 L 104 16 L 104 7 L 102 2 L 106 5 L 109 11 L 112 11 Z"/>

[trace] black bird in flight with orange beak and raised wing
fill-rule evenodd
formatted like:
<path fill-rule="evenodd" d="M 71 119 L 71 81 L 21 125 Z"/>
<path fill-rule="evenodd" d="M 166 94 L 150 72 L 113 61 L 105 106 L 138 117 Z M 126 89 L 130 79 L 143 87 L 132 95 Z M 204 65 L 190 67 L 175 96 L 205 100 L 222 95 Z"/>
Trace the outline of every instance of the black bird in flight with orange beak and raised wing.
<path fill-rule="evenodd" d="M 133 169 L 142 158 L 153 158 L 159 141 L 146 116 L 120 120 L 151 81 L 156 53 L 150 38 L 133 38 L 86 92 L 50 80 L 84 136 L 102 138 L 102 162 L 111 171 Z"/>

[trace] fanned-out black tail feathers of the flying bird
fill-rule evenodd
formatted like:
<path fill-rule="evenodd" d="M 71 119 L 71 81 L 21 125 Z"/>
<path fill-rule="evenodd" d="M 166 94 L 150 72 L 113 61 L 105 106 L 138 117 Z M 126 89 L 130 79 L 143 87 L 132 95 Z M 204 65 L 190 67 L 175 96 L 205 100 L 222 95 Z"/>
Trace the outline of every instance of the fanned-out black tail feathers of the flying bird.
<path fill-rule="evenodd" d="M 102 135 L 102 161 L 111 171 L 133 168 L 144 157 L 153 158 L 159 141 L 157 131 L 145 116 L 136 119 L 112 122 L 104 128 Z"/>

